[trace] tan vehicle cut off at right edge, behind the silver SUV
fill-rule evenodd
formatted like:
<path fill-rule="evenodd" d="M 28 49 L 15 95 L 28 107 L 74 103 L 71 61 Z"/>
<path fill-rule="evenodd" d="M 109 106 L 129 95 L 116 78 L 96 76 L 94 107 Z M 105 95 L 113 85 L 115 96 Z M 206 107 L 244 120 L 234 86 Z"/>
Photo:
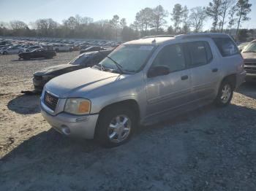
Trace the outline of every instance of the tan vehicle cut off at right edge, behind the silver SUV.
<path fill-rule="evenodd" d="M 241 54 L 244 58 L 245 80 L 256 82 L 256 40 L 247 44 Z"/>

